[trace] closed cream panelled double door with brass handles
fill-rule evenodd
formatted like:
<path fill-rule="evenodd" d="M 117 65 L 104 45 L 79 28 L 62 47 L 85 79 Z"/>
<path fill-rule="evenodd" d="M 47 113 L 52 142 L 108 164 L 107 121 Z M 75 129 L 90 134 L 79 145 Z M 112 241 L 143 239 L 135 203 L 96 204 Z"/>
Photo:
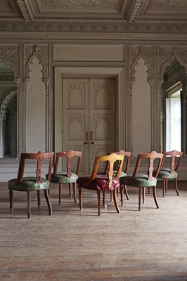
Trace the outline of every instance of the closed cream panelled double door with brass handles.
<path fill-rule="evenodd" d="M 63 150 L 82 151 L 80 175 L 115 151 L 115 108 L 115 79 L 63 79 Z"/>

